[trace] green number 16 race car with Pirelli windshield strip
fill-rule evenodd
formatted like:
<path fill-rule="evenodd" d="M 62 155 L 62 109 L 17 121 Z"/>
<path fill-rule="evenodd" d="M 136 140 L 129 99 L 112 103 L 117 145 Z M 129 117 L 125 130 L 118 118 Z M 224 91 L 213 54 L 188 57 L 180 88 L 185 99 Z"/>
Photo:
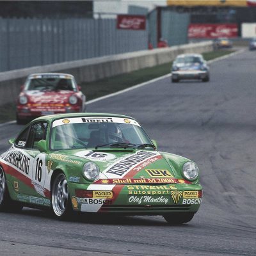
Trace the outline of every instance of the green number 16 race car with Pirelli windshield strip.
<path fill-rule="evenodd" d="M 157 151 L 129 116 L 42 116 L 9 142 L 0 156 L 1 211 L 46 207 L 58 219 L 76 211 L 186 223 L 202 202 L 198 166 Z"/>

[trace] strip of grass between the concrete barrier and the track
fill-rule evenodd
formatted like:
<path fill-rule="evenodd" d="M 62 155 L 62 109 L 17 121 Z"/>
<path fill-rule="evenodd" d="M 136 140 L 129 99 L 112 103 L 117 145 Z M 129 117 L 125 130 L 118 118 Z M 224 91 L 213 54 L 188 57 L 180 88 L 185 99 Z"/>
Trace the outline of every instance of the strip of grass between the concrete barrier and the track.
<path fill-rule="evenodd" d="M 218 50 L 212 52 L 205 52 L 203 56 L 205 60 L 212 60 L 227 54 L 230 50 Z M 133 85 L 140 84 L 156 77 L 164 76 L 170 73 L 172 62 L 165 63 L 151 68 L 143 68 L 131 73 L 122 74 L 118 76 L 108 77 L 99 81 L 90 83 L 80 83 L 82 92 L 86 95 L 87 100 L 96 99 L 98 97 L 108 95 L 110 93 L 118 92 L 129 88 Z M 8 103 L 1 106 L 0 123 L 15 120 L 15 104 Z"/>

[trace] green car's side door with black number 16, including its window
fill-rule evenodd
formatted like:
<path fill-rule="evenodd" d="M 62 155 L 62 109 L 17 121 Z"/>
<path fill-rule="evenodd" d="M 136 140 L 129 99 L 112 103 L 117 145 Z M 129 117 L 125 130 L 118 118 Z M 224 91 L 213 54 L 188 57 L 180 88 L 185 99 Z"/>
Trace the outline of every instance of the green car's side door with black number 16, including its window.
<path fill-rule="evenodd" d="M 47 122 L 36 122 L 31 125 L 26 143 L 26 152 L 33 155 L 30 163 L 31 187 L 41 196 L 46 196 L 45 189 L 45 161 L 46 154 L 38 150 L 38 141 L 45 140 L 47 133 Z"/>

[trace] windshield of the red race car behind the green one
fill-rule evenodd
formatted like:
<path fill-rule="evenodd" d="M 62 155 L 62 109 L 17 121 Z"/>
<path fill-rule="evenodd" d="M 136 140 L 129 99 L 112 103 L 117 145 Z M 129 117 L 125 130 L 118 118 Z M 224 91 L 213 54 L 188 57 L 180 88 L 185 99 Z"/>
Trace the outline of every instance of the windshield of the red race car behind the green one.
<path fill-rule="evenodd" d="M 28 79 L 26 90 L 76 91 L 76 84 L 74 79 L 68 76 L 35 76 Z"/>

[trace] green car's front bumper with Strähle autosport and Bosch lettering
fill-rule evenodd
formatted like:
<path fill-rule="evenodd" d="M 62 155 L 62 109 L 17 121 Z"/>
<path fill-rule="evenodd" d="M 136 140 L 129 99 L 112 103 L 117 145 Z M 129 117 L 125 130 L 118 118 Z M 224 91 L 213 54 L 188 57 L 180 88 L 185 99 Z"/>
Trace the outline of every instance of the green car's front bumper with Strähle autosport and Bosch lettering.
<path fill-rule="evenodd" d="M 196 212 L 202 202 L 200 184 L 84 185 L 68 183 L 74 211 L 125 215 Z"/>

